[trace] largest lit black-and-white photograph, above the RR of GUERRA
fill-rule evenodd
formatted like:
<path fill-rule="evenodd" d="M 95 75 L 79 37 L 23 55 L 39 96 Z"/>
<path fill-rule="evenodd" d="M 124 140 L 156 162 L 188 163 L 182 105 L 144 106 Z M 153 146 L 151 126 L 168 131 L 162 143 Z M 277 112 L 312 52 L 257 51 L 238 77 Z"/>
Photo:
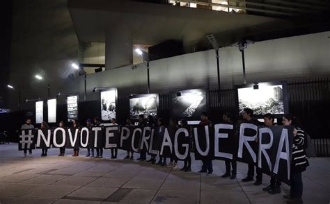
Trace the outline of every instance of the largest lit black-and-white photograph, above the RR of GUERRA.
<path fill-rule="evenodd" d="M 244 108 L 251 108 L 254 114 L 284 114 L 283 87 L 282 85 L 259 85 L 239 88 L 239 112 Z"/>

